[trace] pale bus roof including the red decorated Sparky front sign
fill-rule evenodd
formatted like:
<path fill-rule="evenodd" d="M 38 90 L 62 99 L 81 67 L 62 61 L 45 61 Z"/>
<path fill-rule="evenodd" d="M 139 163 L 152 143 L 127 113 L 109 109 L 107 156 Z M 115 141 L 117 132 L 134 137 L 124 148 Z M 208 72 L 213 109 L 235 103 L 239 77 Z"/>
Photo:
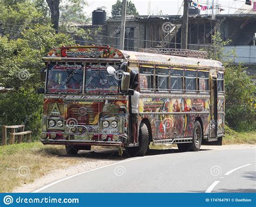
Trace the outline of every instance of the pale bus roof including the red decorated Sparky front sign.
<path fill-rule="evenodd" d="M 217 60 L 203 58 L 180 57 L 168 54 L 123 51 L 107 46 L 68 46 L 52 49 L 45 61 L 100 61 L 126 60 L 131 63 L 155 64 L 177 67 L 215 68 L 224 70 L 223 64 Z"/>

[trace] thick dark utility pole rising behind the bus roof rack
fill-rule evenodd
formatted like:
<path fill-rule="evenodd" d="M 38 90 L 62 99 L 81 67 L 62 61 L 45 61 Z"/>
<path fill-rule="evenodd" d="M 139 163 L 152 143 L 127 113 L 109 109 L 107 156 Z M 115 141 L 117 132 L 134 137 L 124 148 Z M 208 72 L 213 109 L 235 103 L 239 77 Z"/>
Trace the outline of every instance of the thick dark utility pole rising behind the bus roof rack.
<path fill-rule="evenodd" d="M 187 36 L 188 36 L 188 1 L 184 0 L 184 10 L 181 26 L 181 49 L 187 49 Z"/>

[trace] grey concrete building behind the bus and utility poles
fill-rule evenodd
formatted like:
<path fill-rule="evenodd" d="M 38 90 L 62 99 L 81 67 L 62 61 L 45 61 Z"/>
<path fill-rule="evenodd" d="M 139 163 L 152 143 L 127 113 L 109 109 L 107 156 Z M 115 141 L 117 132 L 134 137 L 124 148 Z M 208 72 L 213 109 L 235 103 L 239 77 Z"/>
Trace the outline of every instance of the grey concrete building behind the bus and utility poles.
<path fill-rule="evenodd" d="M 180 15 L 127 16 L 124 49 L 131 51 L 153 47 L 180 49 L 181 23 Z M 95 31 L 99 28 L 100 31 L 92 34 L 91 40 L 85 40 L 80 44 L 94 43 L 118 48 L 120 24 L 120 19 L 108 19 L 104 25 L 83 26 L 85 30 Z M 235 49 L 237 52 L 236 57 L 233 58 L 233 64 L 242 62 L 248 66 L 248 72 L 255 75 L 256 11 L 240 9 L 231 15 L 214 15 L 213 17 L 189 15 L 188 49 L 207 50 L 212 44 L 212 34 L 217 31 L 221 33 L 223 40 L 232 40 L 225 50 Z"/>

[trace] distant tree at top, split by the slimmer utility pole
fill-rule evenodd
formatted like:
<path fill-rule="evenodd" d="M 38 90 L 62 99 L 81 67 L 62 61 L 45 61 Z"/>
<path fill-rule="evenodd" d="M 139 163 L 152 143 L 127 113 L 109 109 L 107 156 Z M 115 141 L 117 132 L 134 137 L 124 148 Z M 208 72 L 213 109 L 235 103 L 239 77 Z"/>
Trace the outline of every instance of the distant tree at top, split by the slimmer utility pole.
<path fill-rule="evenodd" d="M 122 11 L 122 2 L 120 0 L 117 0 L 116 4 L 112 5 L 112 11 L 111 15 L 113 19 L 120 18 Z M 135 5 L 132 3 L 132 1 L 127 2 L 126 6 L 126 15 L 139 15 Z"/>

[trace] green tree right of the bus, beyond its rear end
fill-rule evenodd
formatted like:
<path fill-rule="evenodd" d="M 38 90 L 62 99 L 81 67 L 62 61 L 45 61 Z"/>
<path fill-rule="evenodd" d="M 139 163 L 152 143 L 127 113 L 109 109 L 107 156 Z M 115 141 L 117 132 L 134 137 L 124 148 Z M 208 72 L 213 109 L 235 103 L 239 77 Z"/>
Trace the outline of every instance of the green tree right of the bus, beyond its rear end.
<path fill-rule="evenodd" d="M 220 33 L 212 36 L 212 47 L 208 58 L 219 60 L 225 67 L 225 119 L 230 127 L 237 130 L 255 129 L 255 86 L 242 64 L 232 64 L 234 51 L 225 53 L 224 47 L 231 40 L 223 41 Z M 231 57 L 228 59 L 228 57 Z"/>

